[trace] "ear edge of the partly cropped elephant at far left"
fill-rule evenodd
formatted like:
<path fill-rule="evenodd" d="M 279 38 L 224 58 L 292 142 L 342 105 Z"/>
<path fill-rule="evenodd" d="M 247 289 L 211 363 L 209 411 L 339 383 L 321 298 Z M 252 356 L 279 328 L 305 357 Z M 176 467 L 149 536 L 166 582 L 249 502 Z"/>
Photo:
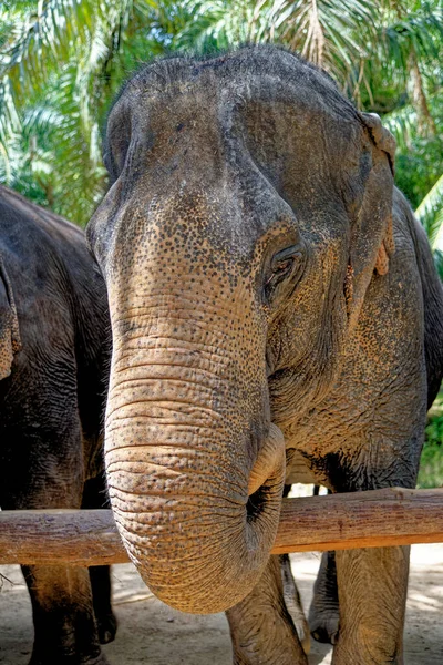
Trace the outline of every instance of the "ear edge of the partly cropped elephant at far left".
<path fill-rule="evenodd" d="M 12 286 L 0 256 L 0 380 L 9 377 L 14 354 L 21 349 Z"/>

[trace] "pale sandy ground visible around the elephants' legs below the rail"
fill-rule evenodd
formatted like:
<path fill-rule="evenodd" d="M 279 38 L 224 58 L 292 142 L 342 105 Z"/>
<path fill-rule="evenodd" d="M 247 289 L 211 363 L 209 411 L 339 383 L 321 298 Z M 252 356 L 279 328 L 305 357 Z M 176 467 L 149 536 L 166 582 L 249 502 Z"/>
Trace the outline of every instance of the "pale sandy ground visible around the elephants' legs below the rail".
<path fill-rule="evenodd" d="M 319 555 L 291 555 L 305 607 L 309 606 Z M 443 664 L 443 544 L 414 545 L 405 627 L 405 664 Z M 27 665 L 32 648 L 31 605 L 18 566 L 0 566 L 0 663 Z M 119 633 L 104 647 L 111 665 L 231 665 L 223 614 L 193 616 L 157 601 L 131 564 L 113 567 Z M 331 662 L 330 648 L 313 642 L 310 665 Z M 357 664 L 356 664 L 357 665 Z"/>

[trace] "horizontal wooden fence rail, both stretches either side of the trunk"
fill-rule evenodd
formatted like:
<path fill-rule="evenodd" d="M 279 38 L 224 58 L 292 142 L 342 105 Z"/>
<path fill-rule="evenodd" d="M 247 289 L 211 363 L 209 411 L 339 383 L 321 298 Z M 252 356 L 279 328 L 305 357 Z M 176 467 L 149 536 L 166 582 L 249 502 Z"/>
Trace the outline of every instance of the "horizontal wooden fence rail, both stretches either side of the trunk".
<path fill-rule="evenodd" d="M 443 542 L 443 489 L 285 499 L 272 552 Z M 110 510 L 0 511 L 0 564 L 127 561 Z"/>

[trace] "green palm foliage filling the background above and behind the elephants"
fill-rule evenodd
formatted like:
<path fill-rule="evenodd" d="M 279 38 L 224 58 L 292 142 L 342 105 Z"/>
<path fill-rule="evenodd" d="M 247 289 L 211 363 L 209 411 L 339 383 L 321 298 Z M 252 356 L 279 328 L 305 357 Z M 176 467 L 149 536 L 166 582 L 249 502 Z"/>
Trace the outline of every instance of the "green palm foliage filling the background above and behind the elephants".
<path fill-rule="evenodd" d="M 419 207 L 443 173 L 442 34 L 440 0 L 6 0 L 0 182 L 84 224 L 106 186 L 106 109 L 140 62 L 279 42 L 383 115 L 399 143 L 396 182 Z M 437 191 L 419 208 L 432 233 Z"/>

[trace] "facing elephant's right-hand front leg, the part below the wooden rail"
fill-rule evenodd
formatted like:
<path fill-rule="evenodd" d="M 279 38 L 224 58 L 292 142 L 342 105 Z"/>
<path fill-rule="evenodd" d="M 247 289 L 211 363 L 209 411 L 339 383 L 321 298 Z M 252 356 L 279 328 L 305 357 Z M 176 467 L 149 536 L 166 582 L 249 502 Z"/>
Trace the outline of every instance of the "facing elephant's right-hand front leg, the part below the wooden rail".
<path fill-rule="evenodd" d="M 336 552 L 340 633 L 332 664 L 403 664 L 409 546 Z"/>

